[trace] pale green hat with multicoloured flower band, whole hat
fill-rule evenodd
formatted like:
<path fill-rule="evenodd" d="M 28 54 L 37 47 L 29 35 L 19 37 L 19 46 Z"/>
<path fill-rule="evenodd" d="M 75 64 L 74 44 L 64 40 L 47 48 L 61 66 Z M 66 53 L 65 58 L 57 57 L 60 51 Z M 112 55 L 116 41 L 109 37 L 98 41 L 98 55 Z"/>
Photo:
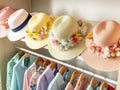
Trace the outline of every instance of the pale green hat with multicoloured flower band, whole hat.
<path fill-rule="evenodd" d="M 58 17 L 50 30 L 48 50 L 59 60 L 70 60 L 86 49 L 78 22 L 69 15 Z"/>

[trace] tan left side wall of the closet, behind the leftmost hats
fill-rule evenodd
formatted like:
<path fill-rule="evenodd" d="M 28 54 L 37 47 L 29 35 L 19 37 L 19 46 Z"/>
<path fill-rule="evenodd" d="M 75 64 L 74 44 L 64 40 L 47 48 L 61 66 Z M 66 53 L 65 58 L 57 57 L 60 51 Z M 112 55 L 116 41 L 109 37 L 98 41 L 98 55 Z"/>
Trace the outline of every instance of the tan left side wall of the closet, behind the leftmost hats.
<path fill-rule="evenodd" d="M 30 12 L 30 0 L 0 0 L 0 8 L 10 6 L 13 9 L 24 8 Z M 14 42 L 7 38 L 0 39 L 0 90 L 6 90 L 6 65 L 16 53 Z"/>

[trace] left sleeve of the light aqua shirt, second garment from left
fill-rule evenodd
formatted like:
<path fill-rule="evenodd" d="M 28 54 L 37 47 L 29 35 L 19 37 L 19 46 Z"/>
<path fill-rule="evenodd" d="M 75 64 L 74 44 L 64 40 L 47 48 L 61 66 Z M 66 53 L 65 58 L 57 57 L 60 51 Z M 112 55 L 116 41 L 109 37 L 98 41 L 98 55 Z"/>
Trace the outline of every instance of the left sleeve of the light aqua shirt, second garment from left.
<path fill-rule="evenodd" d="M 19 90 L 19 88 L 18 88 L 17 74 L 15 72 L 15 69 L 13 69 L 13 77 L 12 77 L 12 82 L 11 82 L 11 90 Z"/>

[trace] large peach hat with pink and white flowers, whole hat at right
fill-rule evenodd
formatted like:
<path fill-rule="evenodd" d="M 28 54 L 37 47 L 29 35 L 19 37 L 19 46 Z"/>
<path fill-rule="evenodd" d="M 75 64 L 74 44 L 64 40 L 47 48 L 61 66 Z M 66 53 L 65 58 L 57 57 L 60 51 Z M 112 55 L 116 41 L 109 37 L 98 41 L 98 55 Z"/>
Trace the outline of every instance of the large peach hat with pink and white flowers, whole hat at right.
<path fill-rule="evenodd" d="M 120 65 L 120 24 L 113 20 L 98 23 L 86 38 L 84 61 L 100 71 L 116 71 Z"/>

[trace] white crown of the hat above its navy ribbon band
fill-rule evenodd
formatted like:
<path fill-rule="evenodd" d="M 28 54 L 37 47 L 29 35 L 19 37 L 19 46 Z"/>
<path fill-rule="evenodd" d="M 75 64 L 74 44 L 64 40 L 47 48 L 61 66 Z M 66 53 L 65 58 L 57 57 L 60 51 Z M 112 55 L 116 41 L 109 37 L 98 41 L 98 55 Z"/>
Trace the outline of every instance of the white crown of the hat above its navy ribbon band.
<path fill-rule="evenodd" d="M 14 12 L 8 19 L 8 25 L 11 29 L 20 26 L 28 17 L 28 12 L 24 9 L 19 9 Z"/>

